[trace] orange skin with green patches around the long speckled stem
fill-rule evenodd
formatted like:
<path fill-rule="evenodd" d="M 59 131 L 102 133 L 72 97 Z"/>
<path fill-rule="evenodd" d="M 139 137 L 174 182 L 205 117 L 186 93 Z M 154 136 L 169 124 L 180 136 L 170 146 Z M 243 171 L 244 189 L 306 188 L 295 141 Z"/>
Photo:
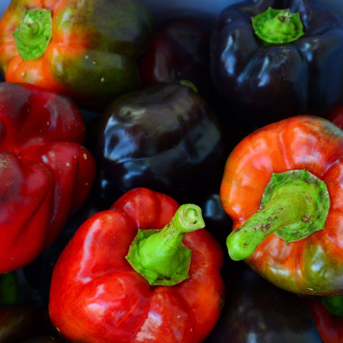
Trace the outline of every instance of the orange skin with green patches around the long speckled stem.
<path fill-rule="evenodd" d="M 231 237 L 240 234 L 243 238 L 255 237 L 263 232 L 260 224 L 244 236 L 248 219 L 267 211 L 260 203 L 272 173 L 305 168 L 326 182 L 330 208 L 322 229 L 289 244 L 272 233 L 244 259 L 265 279 L 287 291 L 309 295 L 343 293 L 342 149 L 343 131 L 332 122 L 314 116 L 296 116 L 251 133 L 227 159 L 220 197 L 224 210 L 233 219 Z M 301 204 L 302 201 L 295 206 L 279 205 L 278 212 L 267 222 L 274 223 L 281 212 L 297 210 Z M 318 208 L 318 214 L 321 213 Z M 316 223 L 311 216 L 306 217 L 306 211 L 300 217 L 303 223 Z M 264 227 L 266 231 L 270 229 L 268 226 Z M 238 227 L 241 228 L 235 230 Z M 249 243 L 241 250 L 248 248 Z"/>

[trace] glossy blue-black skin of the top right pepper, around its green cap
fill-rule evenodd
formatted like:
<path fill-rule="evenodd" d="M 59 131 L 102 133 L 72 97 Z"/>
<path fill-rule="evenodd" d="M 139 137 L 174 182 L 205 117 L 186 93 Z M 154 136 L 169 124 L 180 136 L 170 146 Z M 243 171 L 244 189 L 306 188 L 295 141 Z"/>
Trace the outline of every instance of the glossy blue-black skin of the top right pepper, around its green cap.
<path fill-rule="evenodd" d="M 251 17 L 268 7 L 300 13 L 304 35 L 281 45 L 263 42 Z M 213 31 L 214 84 L 254 128 L 300 114 L 323 117 L 342 101 L 342 66 L 343 21 L 310 0 L 233 4 L 221 12 Z"/>

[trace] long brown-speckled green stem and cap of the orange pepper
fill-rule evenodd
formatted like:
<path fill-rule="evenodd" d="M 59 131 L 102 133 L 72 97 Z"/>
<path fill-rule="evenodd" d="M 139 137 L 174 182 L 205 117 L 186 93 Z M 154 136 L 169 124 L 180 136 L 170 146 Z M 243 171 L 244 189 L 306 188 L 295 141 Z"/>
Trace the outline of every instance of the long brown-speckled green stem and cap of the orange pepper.
<path fill-rule="evenodd" d="M 329 210 L 326 182 L 307 169 L 273 173 L 260 209 L 227 237 L 229 255 L 236 261 L 249 257 L 272 233 L 286 244 L 304 239 L 325 228 Z"/>

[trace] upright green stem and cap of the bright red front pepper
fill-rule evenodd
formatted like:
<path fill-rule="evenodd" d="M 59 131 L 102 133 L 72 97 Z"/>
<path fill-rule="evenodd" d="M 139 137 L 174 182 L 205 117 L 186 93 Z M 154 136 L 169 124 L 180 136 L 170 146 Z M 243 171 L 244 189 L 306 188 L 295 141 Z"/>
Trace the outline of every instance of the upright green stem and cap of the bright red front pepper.
<path fill-rule="evenodd" d="M 204 226 L 199 206 L 182 205 L 162 230 L 138 229 L 126 259 L 150 285 L 173 286 L 189 278 L 192 251 L 182 244 L 185 233 Z"/>

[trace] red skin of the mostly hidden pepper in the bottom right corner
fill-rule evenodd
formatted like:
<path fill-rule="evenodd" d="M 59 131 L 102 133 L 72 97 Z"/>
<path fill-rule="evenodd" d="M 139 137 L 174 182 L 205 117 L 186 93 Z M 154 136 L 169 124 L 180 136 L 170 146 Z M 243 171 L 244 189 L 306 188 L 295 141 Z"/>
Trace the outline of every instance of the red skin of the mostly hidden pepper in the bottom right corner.
<path fill-rule="evenodd" d="M 343 317 L 336 316 L 317 297 L 304 298 L 324 343 L 340 343 L 343 339 Z"/>

